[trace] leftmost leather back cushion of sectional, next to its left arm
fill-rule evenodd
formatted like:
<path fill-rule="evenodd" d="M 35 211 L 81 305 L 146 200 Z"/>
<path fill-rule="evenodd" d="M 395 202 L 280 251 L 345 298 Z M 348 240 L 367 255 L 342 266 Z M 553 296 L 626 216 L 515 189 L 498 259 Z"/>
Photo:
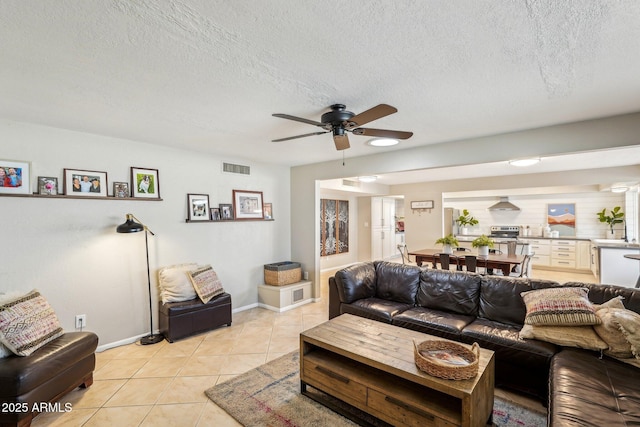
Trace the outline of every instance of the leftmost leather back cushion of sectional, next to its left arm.
<path fill-rule="evenodd" d="M 414 305 L 420 281 L 419 267 L 379 261 L 376 268 L 376 297 Z"/>

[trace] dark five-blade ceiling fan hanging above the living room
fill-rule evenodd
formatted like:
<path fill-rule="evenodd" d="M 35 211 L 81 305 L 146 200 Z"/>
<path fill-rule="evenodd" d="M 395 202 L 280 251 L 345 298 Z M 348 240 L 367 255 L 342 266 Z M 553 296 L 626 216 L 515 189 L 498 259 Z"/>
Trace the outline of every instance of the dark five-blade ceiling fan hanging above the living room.
<path fill-rule="evenodd" d="M 395 107 L 387 104 L 380 104 L 373 108 L 363 111 L 360 114 L 353 114 L 346 110 L 343 104 L 334 104 L 331 111 L 324 113 L 320 118 L 320 122 L 303 119 L 301 117 L 290 116 L 289 114 L 273 114 L 274 117 L 281 119 L 294 120 L 296 122 L 307 123 L 324 129 L 322 132 L 306 133 L 304 135 L 290 136 L 288 138 L 274 139 L 272 142 L 288 141 L 290 139 L 304 138 L 313 135 L 322 135 L 323 133 L 333 133 L 333 142 L 336 144 L 337 150 L 346 150 L 349 148 L 349 138 L 346 132 L 352 132 L 354 135 L 379 136 L 383 138 L 407 139 L 411 138 L 413 132 L 403 132 L 398 130 L 387 129 L 369 129 L 361 128 L 365 123 L 378 120 L 397 112 Z"/>

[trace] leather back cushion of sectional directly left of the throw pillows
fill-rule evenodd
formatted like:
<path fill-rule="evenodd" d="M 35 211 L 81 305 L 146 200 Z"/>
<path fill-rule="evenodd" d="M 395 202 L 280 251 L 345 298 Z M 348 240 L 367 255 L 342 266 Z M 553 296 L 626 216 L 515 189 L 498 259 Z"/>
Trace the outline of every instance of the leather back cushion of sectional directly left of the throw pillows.
<path fill-rule="evenodd" d="M 478 317 L 522 326 L 527 308 L 520 294 L 531 290 L 529 281 L 503 276 L 483 276 L 481 280 Z"/>

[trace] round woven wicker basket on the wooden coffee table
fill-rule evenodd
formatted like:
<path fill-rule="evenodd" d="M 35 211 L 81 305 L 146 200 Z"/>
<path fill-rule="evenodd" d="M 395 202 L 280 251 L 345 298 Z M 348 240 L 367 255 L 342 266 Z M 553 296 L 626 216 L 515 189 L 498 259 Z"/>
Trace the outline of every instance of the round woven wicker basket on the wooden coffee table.
<path fill-rule="evenodd" d="M 418 368 L 434 377 L 447 380 L 468 380 L 478 375 L 478 361 L 480 359 L 480 346 L 473 343 L 471 350 L 460 344 L 451 341 L 429 340 L 417 343 L 413 341 L 416 365 Z M 425 357 L 421 351 L 444 350 L 448 353 L 461 357 L 468 365 L 453 365 L 433 357 Z"/>

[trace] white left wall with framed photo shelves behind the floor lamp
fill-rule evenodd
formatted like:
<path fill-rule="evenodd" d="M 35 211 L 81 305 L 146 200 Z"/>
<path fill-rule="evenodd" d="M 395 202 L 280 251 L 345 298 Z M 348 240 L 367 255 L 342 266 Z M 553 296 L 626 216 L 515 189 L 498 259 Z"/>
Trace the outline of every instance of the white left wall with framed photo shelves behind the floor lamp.
<path fill-rule="evenodd" d="M 257 304 L 264 264 L 291 258 L 289 168 L 11 121 L 0 121 L 0 140 L 0 158 L 31 161 L 34 180 L 57 176 L 62 185 L 63 168 L 105 171 L 111 194 L 131 166 L 159 170 L 160 202 L 0 197 L 0 291 L 39 289 L 66 330 L 86 314 L 100 346 L 149 328 L 144 235 L 115 232 L 126 213 L 156 233 L 154 308 L 159 267 L 211 264 L 237 309 Z M 222 173 L 223 161 L 251 166 L 251 175 Z M 233 189 L 262 191 L 275 221 L 185 222 L 187 193 L 217 206 L 232 203 Z"/>

